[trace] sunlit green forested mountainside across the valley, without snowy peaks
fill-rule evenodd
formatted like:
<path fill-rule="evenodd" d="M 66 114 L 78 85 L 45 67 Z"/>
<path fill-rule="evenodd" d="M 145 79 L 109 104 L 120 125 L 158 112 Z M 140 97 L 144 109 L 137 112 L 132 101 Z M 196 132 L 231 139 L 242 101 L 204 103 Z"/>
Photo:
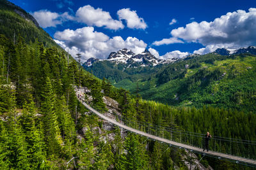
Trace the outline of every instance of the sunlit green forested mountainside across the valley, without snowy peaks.
<path fill-rule="evenodd" d="M 255 55 L 207 54 L 163 67 L 147 80 L 142 76 L 141 81 L 125 79 L 114 85 L 173 106 L 236 108 L 254 113 L 255 74 Z"/>

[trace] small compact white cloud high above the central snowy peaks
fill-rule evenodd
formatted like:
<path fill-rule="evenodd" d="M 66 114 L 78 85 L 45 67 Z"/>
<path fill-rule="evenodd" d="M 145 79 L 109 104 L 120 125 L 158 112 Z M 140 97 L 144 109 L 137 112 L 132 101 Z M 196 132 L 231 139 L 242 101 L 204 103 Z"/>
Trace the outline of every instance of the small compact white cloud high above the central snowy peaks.
<path fill-rule="evenodd" d="M 130 8 L 124 8 L 117 11 L 118 18 L 125 20 L 127 27 L 131 29 L 146 29 L 147 24 L 143 18 L 138 17 L 136 11 L 131 11 Z"/>

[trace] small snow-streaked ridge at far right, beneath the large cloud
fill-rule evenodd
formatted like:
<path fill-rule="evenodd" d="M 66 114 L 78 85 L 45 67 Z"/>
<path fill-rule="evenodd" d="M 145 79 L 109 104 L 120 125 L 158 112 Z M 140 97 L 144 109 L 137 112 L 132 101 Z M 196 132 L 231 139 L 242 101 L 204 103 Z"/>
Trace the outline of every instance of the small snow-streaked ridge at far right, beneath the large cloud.
<path fill-rule="evenodd" d="M 256 55 L 256 46 L 248 46 L 247 48 L 239 48 L 239 49 L 226 49 L 226 48 L 218 48 L 214 51 L 214 53 L 218 53 L 220 55 L 231 55 L 231 54 L 239 54 L 239 53 L 252 53 Z"/>

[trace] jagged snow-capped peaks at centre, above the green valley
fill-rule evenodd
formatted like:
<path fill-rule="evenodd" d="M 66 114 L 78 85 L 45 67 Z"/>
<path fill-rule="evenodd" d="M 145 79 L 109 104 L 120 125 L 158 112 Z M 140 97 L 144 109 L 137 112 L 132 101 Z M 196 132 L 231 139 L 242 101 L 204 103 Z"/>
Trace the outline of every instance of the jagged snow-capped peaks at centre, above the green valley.
<path fill-rule="evenodd" d="M 99 59 L 90 58 L 84 66 L 90 67 L 93 62 Z M 179 60 L 179 58 L 173 58 L 168 60 L 157 59 L 147 49 L 144 52 L 136 54 L 127 48 L 119 50 L 118 52 L 111 52 L 106 59 L 115 64 L 124 64 L 125 67 L 145 67 L 145 66 L 157 66 L 158 64 L 168 64 Z"/>

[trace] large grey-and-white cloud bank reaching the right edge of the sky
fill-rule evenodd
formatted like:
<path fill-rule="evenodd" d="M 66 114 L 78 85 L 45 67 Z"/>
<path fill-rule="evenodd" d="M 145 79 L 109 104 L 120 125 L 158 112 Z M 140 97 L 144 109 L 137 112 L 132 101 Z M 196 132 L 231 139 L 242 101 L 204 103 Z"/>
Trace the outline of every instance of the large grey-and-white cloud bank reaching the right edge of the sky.
<path fill-rule="evenodd" d="M 212 22 L 191 22 L 186 27 L 173 29 L 171 34 L 187 42 L 201 43 L 206 46 L 204 50 L 212 51 L 216 46 L 237 48 L 237 46 L 255 45 L 255 30 L 256 8 L 250 8 L 247 12 L 244 10 L 228 12 Z"/>

